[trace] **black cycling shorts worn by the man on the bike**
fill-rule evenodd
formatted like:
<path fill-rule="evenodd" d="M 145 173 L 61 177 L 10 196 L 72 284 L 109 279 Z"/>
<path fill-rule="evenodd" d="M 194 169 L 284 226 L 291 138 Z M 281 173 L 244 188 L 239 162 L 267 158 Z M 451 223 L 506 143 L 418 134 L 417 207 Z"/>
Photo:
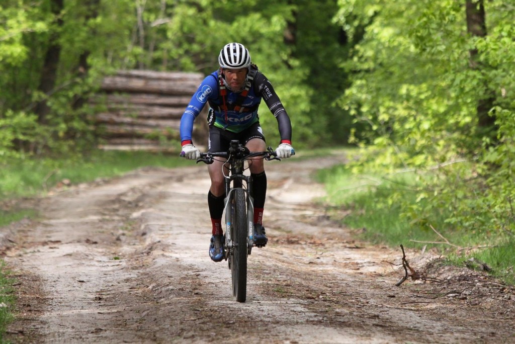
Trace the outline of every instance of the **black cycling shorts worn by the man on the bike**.
<path fill-rule="evenodd" d="M 238 133 L 211 126 L 209 128 L 208 151 L 226 152 L 231 140 L 239 140 L 240 143 L 247 144 L 252 139 L 261 139 L 266 142 L 259 122 Z"/>

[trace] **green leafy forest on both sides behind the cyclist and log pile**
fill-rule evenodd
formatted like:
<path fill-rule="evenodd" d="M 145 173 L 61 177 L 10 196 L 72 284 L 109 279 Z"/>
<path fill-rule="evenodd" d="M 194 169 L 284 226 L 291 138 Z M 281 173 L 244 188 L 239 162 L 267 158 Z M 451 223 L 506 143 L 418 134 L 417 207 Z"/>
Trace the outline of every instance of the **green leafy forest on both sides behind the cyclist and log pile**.
<path fill-rule="evenodd" d="M 513 242 L 513 18 L 513 0 L 4 0 L 0 164 L 87 154 L 104 77 L 208 75 L 240 42 L 296 149 L 357 147 L 349 167 L 397 183 L 384 205 L 414 226 Z"/>

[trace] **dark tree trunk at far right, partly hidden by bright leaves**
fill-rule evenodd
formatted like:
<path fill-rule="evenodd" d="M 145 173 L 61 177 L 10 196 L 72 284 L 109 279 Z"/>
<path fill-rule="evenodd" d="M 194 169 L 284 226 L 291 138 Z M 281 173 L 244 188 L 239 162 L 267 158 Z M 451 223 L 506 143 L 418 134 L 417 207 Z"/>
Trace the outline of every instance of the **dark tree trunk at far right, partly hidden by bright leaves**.
<path fill-rule="evenodd" d="M 467 14 L 467 31 L 474 37 L 485 37 L 487 35 L 485 6 L 483 0 L 466 0 L 466 14 Z M 477 49 L 470 49 L 470 66 L 474 70 L 482 70 L 484 67 L 478 59 Z M 495 137 L 495 116 L 490 115 L 489 111 L 493 107 L 495 100 L 494 94 L 488 88 L 485 81 L 485 94 L 478 100 L 477 103 L 477 132 L 481 136 Z"/>

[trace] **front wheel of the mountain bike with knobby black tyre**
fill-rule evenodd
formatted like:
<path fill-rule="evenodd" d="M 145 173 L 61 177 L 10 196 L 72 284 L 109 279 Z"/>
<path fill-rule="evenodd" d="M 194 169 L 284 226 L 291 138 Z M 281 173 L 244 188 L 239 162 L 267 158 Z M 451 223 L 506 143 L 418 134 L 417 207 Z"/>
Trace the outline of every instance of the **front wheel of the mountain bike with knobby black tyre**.
<path fill-rule="evenodd" d="M 234 190 L 233 202 L 232 290 L 233 295 L 236 296 L 236 301 L 245 302 L 247 299 L 247 210 L 243 189 Z"/>

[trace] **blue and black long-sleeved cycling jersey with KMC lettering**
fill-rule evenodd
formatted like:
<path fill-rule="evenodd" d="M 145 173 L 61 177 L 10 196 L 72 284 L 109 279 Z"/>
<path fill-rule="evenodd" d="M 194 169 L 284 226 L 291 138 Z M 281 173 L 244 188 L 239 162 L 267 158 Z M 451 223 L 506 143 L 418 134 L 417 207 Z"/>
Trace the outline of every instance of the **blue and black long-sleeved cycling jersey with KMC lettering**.
<path fill-rule="evenodd" d="M 272 84 L 261 72 L 255 73 L 253 82 L 247 95 L 243 97 L 243 101 L 240 96 L 241 92 L 232 92 L 228 88 L 226 88 L 226 95 L 222 97 L 218 73 L 220 72 L 215 71 L 204 78 L 190 100 L 190 104 L 186 107 L 181 117 L 181 142 L 191 142 L 193 122 L 205 104 L 209 103 L 210 113 L 214 116 L 210 119 L 210 126 L 213 125 L 220 129 L 238 133 L 259 122 L 258 107 L 261 99 L 265 100 L 265 104 L 277 118 L 281 142 L 291 142 L 289 116 L 279 96 L 273 90 Z M 234 109 L 235 106 L 239 111 Z"/>

